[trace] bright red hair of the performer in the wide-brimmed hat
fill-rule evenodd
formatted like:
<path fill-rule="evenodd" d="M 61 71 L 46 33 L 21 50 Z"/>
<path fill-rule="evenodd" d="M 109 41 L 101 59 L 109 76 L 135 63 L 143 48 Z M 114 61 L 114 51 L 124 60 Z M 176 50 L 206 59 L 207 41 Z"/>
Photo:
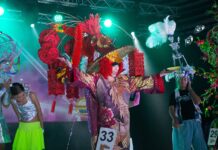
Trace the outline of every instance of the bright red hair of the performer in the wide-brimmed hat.
<path fill-rule="evenodd" d="M 102 58 L 99 61 L 99 73 L 105 78 L 107 79 L 108 76 L 110 76 L 112 74 L 112 64 L 114 62 L 110 61 L 108 58 Z M 122 71 L 123 71 L 123 63 L 119 63 L 119 71 L 117 73 L 117 75 L 119 75 Z"/>

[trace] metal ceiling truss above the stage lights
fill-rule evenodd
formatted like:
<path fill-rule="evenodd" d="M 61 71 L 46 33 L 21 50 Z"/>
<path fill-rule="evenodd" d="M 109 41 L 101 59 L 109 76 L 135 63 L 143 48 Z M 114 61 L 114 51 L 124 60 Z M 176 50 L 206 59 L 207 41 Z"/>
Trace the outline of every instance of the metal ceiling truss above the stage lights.
<path fill-rule="evenodd" d="M 88 6 L 93 10 L 110 10 L 113 12 L 126 12 L 138 9 L 140 15 L 156 14 L 177 16 L 177 7 L 136 3 L 133 0 L 38 0 L 38 3 L 59 4 L 67 7 Z"/>

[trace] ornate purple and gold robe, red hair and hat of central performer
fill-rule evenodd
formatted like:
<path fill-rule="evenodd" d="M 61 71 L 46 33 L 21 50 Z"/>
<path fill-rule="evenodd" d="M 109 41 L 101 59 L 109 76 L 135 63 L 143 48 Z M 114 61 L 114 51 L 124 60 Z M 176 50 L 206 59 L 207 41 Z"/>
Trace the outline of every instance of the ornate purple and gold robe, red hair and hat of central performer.
<path fill-rule="evenodd" d="M 122 52 L 133 47 L 123 47 Z M 118 50 L 109 52 L 107 55 L 96 60 L 91 69 L 99 65 L 99 73 L 85 74 L 77 70 L 75 81 L 77 85 L 87 88 L 86 99 L 89 112 L 89 125 L 92 135 L 92 146 L 96 146 L 97 137 L 100 128 L 110 128 L 117 132 L 114 148 L 129 149 L 130 140 L 130 114 L 129 101 L 131 93 L 144 91 L 145 93 L 163 92 L 163 81 L 159 75 L 145 77 L 128 77 L 118 74 L 114 82 L 107 80 L 107 70 L 112 68 L 113 63 L 122 64 L 120 53 L 115 54 Z M 98 64 L 99 62 L 99 64 Z M 90 72 L 91 69 L 88 69 Z M 119 73 L 122 72 L 120 65 Z M 108 74 L 110 75 L 110 74 Z"/>

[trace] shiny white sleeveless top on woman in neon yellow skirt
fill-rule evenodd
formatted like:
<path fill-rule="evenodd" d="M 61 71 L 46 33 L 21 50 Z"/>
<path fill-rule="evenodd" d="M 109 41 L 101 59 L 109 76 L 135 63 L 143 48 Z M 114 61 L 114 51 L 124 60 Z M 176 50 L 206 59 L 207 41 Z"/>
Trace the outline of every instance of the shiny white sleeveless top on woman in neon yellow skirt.
<path fill-rule="evenodd" d="M 26 99 L 27 103 L 24 105 L 19 105 L 16 100 L 13 100 L 19 112 L 19 120 L 21 121 L 30 121 L 37 115 L 36 106 L 33 104 L 29 94 L 26 96 Z"/>

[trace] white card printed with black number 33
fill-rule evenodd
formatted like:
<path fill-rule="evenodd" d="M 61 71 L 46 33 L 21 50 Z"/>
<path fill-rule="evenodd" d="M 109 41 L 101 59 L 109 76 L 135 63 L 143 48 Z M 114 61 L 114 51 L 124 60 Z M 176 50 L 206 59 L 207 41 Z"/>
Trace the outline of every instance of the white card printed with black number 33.
<path fill-rule="evenodd" d="M 96 150 L 113 150 L 117 132 L 110 128 L 101 128 Z"/>

